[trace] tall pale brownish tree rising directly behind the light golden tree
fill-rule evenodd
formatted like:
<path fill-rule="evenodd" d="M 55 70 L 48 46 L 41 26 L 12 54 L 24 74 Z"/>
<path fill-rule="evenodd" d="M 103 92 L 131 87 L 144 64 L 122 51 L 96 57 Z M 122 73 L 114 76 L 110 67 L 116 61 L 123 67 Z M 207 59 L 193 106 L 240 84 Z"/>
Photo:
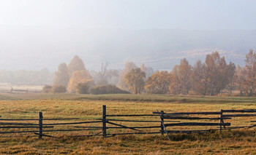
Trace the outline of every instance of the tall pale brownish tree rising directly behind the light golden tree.
<path fill-rule="evenodd" d="M 83 60 L 78 57 L 78 55 L 75 55 L 75 57 L 72 58 L 69 65 L 67 65 L 67 71 L 69 73 L 69 77 L 72 76 L 72 73 L 74 71 L 81 71 L 86 70 L 85 65 L 83 63 Z"/>

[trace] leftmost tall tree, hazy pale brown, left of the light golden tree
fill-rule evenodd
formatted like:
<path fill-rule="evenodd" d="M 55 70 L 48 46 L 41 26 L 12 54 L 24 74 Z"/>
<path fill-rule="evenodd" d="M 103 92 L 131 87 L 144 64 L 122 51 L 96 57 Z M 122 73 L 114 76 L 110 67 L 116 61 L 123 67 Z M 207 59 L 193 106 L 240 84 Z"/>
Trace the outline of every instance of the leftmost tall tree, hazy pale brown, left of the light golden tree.
<path fill-rule="evenodd" d="M 55 72 L 53 79 L 53 85 L 61 85 L 67 87 L 69 83 L 69 73 L 67 71 L 66 63 L 61 63 L 58 67 L 58 71 Z"/>

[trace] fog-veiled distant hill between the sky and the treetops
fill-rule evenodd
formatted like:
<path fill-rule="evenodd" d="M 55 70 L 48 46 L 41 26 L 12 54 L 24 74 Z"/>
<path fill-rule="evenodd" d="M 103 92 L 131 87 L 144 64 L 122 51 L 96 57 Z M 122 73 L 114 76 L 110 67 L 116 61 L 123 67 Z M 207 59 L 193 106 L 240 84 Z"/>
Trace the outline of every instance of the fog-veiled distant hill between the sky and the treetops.
<path fill-rule="evenodd" d="M 154 69 L 170 70 L 187 57 L 191 64 L 219 51 L 244 65 L 249 49 L 256 50 L 256 30 L 187 31 L 179 29 L 86 30 L 45 27 L 0 27 L 0 69 L 56 71 L 59 63 L 80 56 L 86 68 L 101 63 L 124 68 L 128 60 Z"/>

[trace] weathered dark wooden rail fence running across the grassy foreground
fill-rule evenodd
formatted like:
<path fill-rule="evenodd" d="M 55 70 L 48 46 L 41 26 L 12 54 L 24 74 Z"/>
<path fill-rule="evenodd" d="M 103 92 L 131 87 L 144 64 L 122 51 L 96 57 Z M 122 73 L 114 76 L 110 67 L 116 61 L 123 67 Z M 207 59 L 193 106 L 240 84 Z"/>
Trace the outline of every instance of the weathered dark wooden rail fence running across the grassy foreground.
<path fill-rule="evenodd" d="M 103 138 L 115 135 L 133 135 L 133 134 L 167 134 L 170 133 L 205 133 L 210 131 L 231 130 L 244 127 L 256 127 L 256 124 L 250 126 L 231 127 L 230 119 L 234 117 L 252 117 L 256 116 L 255 109 L 244 110 L 220 110 L 218 112 L 183 112 L 166 113 L 165 111 L 155 111 L 153 114 L 124 114 L 108 115 L 106 106 L 102 106 L 102 118 L 93 121 L 74 122 L 78 118 L 69 119 L 44 119 L 42 112 L 39 112 L 38 119 L 0 119 L 0 137 L 42 137 L 59 138 L 55 135 L 49 135 L 50 132 L 80 132 L 94 131 L 81 135 L 66 135 L 68 137 L 80 136 L 102 136 Z M 119 119 L 114 119 L 119 118 Z M 125 119 L 124 119 L 125 118 Z M 129 119 L 128 119 L 129 118 Z M 133 119 L 131 119 L 133 118 Z M 67 122 L 71 121 L 72 122 Z M 79 119 L 80 120 L 80 119 Z M 51 123 L 45 123 L 50 122 Z M 63 122 L 66 121 L 66 122 Z M 204 121 L 204 122 L 202 122 Z M 207 122 L 205 122 L 207 121 Z M 36 122 L 36 123 L 34 123 Z M 119 123 L 118 123 L 119 122 Z M 256 122 L 251 121 L 250 122 Z M 122 124 L 127 123 L 127 124 Z M 132 126 L 129 125 L 132 123 Z M 76 126 L 87 124 L 87 126 Z M 136 125 L 135 125 L 136 124 Z M 69 127 L 67 127 L 69 126 Z M 189 130 L 184 130 L 189 127 Z M 191 128 L 196 127 L 196 130 Z M 197 128 L 201 127 L 200 130 Z M 203 129 L 202 127 L 206 127 Z M 210 127 L 210 129 L 209 129 Z M 217 127 L 212 128 L 212 127 Z M 176 128 L 176 130 L 170 130 Z M 178 129 L 178 130 L 177 130 Z M 118 131 L 117 131 L 118 130 Z M 30 135 L 22 135 L 22 134 Z M 32 133 L 32 134 L 31 134 Z M 13 135 L 14 134 L 14 135 Z M 18 136 L 20 134 L 20 136 Z M 2 136 L 1 136 L 2 135 Z M 7 136 L 3 136 L 7 135 Z"/>

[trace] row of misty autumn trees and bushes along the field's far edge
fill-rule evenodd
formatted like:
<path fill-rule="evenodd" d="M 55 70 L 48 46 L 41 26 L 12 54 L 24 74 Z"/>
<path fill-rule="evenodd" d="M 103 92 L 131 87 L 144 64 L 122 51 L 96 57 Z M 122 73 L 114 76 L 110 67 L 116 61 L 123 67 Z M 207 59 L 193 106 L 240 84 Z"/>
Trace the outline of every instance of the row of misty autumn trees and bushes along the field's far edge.
<path fill-rule="evenodd" d="M 48 90 L 62 87 L 67 92 L 95 94 L 115 90 L 112 92 L 173 95 L 225 93 L 230 96 L 236 92 L 236 95 L 252 96 L 256 94 L 256 53 L 253 50 L 246 54 L 245 63 L 243 67 L 233 62 L 227 63 L 219 52 L 211 52 L 204 61 L 197 60 L 194 65 L 183 58 L 170 72 L 154 71 L 144 64 L 138 67 L 132 62 L 127 62 L 123 70 L 112 70 L 108 68 L 108 63 L 102 63 L 99 71 L 88 71 L 83 60 L 75 56 L 69 65 L 59 65 L 53 87 L 48 87 Z"/>

